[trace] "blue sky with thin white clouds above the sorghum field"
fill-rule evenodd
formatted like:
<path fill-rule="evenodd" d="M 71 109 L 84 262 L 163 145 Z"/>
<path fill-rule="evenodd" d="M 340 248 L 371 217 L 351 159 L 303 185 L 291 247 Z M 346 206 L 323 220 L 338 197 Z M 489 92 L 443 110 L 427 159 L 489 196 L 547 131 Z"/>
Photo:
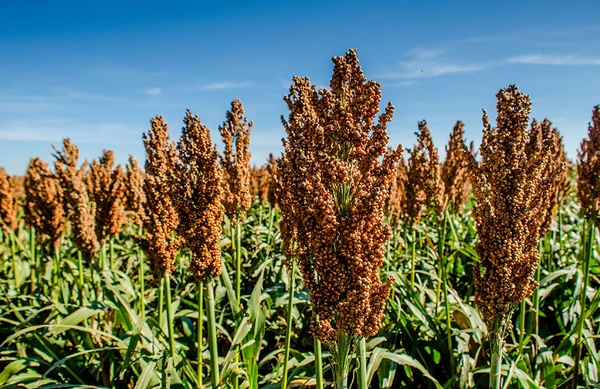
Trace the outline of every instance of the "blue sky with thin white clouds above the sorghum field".
<path fill-rule="evenodd" d="M 365 75 L 396 106 L 391 143 L 412 147 L 426 119 L 443 150 L 456 120 L 481 139 L 481 109 L 514 83 L 576 157 L 600 104 L 597 1 L 0 2 L 0 166 L 71 137 L 83 158 L 144 158 L 162 114 L 179 137 L 186 108 L 212 130 L 240 98 L 255 125 L 252 161 L 278 155 L 294 75 L 327 86 L 331 57 L 358 48 Z M 368 4 L 368 5 L 367 5 Z M 443 155 L 443 152 L 441 153 Z"/>

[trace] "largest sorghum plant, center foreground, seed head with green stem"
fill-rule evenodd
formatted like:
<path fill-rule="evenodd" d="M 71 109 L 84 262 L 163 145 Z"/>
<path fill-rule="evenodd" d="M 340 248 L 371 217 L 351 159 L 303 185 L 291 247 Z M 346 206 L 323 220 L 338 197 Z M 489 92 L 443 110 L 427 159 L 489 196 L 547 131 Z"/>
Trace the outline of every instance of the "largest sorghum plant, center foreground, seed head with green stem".
<path fill-rule="evenodd" d="M 393 106 L 375 120 L 380 85 L 365 78 L 356 50 L 333 62 L 330 89 L 294 77 L 284 98 L 290 115 L 282 118 L 278 202 L 286 253 L 310 291 L 311 328 L 332 351 L 336 387 L 346 388 L 353 347 L 381 327 L 392 285 L 379 271 L 401 147 L 386 152 Z"/>

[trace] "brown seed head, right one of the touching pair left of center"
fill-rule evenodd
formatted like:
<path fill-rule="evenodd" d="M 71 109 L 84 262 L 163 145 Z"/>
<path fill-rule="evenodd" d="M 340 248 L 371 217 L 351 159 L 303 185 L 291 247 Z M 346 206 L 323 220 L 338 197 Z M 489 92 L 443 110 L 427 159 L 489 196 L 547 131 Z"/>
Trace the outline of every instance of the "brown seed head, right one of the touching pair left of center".
<path fill-rule="evenodd" d="M 208 127 L 189 110 L 183 122 L 175 170 L 174 197 L 181 217 L 177 232 L 192 252 L 190 271 L 203 280 L 221 274 L 222 176 Z"/>

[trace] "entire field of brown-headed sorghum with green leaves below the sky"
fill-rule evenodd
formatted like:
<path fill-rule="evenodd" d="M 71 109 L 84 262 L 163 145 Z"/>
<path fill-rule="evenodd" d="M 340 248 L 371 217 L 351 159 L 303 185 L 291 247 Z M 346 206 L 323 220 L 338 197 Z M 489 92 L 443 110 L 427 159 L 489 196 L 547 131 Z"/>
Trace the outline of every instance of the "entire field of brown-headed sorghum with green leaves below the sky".
<path fill-rule="evenodd" d="M 152 118 L 145 167 L 65 139 L 0 170 L 0 387 L 600 387 L 600 107 L 568 161 L 509 86 L 442 161 L 333 62 L 264 166 L 236 100 L 222 154 L 188 111 L 179 138 Z"/>

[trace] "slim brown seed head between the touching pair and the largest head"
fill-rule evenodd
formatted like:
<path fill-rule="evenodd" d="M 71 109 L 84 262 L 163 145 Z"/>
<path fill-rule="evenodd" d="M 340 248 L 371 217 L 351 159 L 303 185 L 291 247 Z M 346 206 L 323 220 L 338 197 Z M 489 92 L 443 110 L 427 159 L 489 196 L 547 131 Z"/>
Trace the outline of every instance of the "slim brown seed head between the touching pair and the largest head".
<path fill-rule="evenodd" d="M 252 122 L 244 116 L 244 107 L 239 99 L 231 103 L 226 120 L 219 127 L 225 150 L 221 165 L 227 185 L 227 196 L 223 197 L 225 212 L 230 220 L 244 217 L 250 208 L 250 130 Z M 235 150 L 234 150 L 235 149 Z"/>

